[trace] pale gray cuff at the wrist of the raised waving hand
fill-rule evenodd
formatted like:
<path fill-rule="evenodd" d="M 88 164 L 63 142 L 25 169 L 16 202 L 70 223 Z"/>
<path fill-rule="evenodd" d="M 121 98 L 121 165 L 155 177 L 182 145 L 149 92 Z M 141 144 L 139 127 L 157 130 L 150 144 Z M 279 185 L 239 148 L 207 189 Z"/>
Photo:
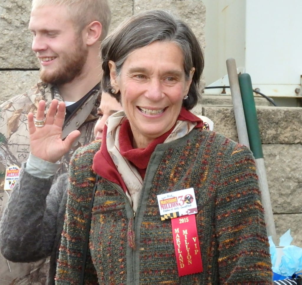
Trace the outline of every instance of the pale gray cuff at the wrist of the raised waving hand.
<path fill-rule="evenodd" d="M 56 163 L 51 163 L 30 153 L 25 169 L 32 176 L 39 178 L 50 178 L 56 174 L 56 171 L 59 169 L 59 167 L 59 161 Z"/>

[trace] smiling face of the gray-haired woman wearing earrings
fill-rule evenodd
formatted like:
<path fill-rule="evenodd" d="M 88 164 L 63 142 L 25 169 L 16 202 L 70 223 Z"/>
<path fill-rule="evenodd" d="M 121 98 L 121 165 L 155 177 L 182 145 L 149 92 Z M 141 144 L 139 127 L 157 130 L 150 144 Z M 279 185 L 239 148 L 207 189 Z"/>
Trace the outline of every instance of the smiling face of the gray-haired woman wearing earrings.
<path fill-rule="evenodd" d="M 153 42 L 134 50 L 120 75 L 109 62 L 111 85 L 121 93 L 121 103 L 133 132 L 133 147 L 146 147 L 176 122 L 182 100 L 188 94 L 182 50 L 172 42 Z"/>

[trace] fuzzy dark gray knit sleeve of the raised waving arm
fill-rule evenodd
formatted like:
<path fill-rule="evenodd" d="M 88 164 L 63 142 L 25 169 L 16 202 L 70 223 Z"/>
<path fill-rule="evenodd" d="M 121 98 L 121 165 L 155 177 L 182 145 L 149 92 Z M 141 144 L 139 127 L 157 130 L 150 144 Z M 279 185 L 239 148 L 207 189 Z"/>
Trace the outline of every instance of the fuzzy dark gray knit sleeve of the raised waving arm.
<path fill-rule="evenodd" d="M 1 221 L 0 249 L 8 260 L 31 262 L 51 254 L 68 175 L 52 182 L 53 177 L 38 178 L 21 170 Z"/>

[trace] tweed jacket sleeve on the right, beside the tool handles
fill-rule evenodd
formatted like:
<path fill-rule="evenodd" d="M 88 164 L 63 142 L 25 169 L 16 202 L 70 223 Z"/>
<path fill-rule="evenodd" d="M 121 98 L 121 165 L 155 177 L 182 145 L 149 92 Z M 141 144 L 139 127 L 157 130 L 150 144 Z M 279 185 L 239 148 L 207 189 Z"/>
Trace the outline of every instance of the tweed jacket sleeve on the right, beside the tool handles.
<path fill-rule="evenodd" d="M 252 153 L 245 146 L 226 141 L 220 154 L 224 157 L 219 160 L 222 167 L 215 201 L 220 284 L 272 284 L 264 210 Z"/>

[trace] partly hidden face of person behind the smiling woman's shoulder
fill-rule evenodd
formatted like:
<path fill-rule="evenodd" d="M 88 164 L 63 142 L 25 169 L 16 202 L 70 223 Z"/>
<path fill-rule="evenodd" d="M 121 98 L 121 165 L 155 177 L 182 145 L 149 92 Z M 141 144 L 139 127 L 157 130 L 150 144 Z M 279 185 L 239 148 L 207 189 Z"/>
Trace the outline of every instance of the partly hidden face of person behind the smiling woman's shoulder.
<path fill-rule="evenodd" d="M 115 98 L 111 97 L 108 93 L 102 93 L 101 103 L 98 108 L 99 118 L 94 128 L 94 135 L 96 140 L 102 138 L 103 128 L 108 117 L 121 110 L 123 110 L 123 108 Z"/>

